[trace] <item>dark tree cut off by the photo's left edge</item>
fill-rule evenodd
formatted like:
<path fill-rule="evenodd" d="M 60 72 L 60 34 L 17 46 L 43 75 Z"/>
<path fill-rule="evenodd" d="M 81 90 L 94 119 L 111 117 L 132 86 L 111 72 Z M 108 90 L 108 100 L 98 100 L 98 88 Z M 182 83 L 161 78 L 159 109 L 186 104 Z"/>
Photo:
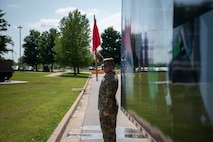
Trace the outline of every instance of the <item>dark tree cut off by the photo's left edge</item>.
<path fill-rule="evenodd" d="M 10 26 L 8 22 L 3 18 L 4 15 L 5 13 L 0 10 L 0 58 L 2 54 L 11 51 L 10 49 L 7 49 L 7 43 L 12 44 L 11 37 L 2 35 L 3 32 L 7 31 L 7 27 Z"/>

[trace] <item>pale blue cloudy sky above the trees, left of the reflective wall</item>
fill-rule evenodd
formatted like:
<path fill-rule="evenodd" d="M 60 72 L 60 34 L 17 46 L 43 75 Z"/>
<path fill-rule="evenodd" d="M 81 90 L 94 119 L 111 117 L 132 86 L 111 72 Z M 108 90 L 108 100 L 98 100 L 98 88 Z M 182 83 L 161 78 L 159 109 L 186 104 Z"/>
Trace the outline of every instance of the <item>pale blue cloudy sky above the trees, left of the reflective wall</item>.
<path fill-rule="evenodd" d="M 86 14 L 91 33 L 94 15 L 100 34 L 110 26 L 121 31 L 121 0 L 0 0 L 0 9 L 6 13 L 3 18 L 10 24 L 8 30 L 1 34 L 10 36 L 14 42 L 14 46 L 7 45 L 8 49 L 14 50 L 13 55 L 8 52 L 3 57 L 13 58 L 16 62 L 20 57 L 20 37 L 23 44 L 23 39 L 32 29 L 42 33 L 58 28 L 60 20 L 76 9 Z M 23 28 L 20 30 L 19 26 Z M 21 48 L 21 56 L 23 50 Z"/>

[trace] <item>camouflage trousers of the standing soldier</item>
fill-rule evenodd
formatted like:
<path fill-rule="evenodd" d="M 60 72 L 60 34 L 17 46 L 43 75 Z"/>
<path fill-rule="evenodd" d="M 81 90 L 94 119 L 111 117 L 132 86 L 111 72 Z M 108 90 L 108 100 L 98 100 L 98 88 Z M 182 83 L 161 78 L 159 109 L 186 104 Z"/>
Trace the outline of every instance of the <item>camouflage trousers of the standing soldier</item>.
<path fill-rule="evenodd" d="M 115 112 L 109 116 L 104 116 L 102 111 L 99 112 L 104 142 L 116 142 L 117 113 L 118 112 Z"/>

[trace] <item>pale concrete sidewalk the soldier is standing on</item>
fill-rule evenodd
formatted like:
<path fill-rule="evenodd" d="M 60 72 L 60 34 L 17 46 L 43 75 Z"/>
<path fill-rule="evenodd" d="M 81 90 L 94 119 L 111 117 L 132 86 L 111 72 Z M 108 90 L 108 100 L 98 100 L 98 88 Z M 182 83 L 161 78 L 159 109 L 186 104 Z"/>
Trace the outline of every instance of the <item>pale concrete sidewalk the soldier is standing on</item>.
<path fill-rule="evenodd" d="M 64 131 L 55 130 L 48 142 L 103 142 L 97 109 L 98 91 L 102 77 L 103 74 L 99 74 L 98 81 L 96 81 L 96 75 L 91 74 L 85 91 L 77 99 L 79 103 L 76 103 L 72 115 L 65 116 L 66 118 L 59 124 L 59 127 L 65 125 L 65 119 L 69 119 Z M 120 85 L 116 96 L 120 104 Z M 117 142 L 148 142 L 120 109 L 117 116 L 116 132 Z M 57 137 L 59 133 L 62 133 L 61 137 L 56 140 L 54 137 Z"/>

